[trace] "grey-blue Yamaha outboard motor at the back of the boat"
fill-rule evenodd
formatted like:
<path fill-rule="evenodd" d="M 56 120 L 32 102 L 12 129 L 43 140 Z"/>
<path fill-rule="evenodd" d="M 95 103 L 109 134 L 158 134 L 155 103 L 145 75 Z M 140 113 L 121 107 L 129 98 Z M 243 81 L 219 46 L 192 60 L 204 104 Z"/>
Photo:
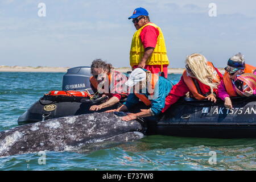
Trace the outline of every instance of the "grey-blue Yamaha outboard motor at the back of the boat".
<path fill-rule="evenodd" d="M 62 90 L 85 90 L 90 93 L 90 67 L 75 67 L 69 68 L 68 72 L 63 76 Z"/>

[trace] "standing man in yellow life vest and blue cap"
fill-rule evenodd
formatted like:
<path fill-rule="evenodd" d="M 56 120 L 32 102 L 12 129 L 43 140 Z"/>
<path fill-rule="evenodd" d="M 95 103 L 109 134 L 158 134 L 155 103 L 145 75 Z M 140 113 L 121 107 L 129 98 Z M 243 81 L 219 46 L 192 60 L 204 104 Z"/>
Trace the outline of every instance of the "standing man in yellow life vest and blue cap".
<path fill-rule="evenodd" d="M 167 78 L 169 60 L 161 28 L 150 22 L 147 10 L 142 7 L 135 9 L 128 19 L 131 18 L 137 30 L 131 41 L 131 67 L 144 68 L 151 73 L 164 72 Z"/>

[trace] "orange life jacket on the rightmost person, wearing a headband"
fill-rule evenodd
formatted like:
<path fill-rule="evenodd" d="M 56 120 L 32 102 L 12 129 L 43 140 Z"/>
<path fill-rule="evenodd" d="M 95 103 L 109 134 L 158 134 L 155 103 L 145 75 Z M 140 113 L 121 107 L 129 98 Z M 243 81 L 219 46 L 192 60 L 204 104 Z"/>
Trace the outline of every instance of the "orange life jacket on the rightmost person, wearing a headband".
<path fill-rule="evenodd" d="M 249 64 L 245 64 L 244 72 L 245 73 L 253 73 L 255 69 L 256 69 L 256 67 L 253 67 L 252 65 L 249 65 Z M 229 77 L 229 73 L 225 72 L 224 77 L 223 77 L 223 82 L 225 85 L 226 92 L 229 94 L 229 96 L 231 96 L 231 97 L 238 96 L 236 91 L 233 88 L 233 83 L 232 83 L 231 78 Z"/>

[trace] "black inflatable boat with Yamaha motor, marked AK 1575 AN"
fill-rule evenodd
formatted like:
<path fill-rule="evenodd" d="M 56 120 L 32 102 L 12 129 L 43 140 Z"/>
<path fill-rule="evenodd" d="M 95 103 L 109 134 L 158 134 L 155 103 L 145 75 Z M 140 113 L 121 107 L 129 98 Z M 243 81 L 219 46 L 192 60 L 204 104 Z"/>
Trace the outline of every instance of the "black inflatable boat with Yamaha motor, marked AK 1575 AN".
<path fill-rule="evenodd" d="M 75 67 L 68 69 L 63 76 L 64 93 L 45 94 L 18 118 L 18 124 L 40 122 L 46 119 L 69 115 L 89 114 L 90 106 L 101 104 L 105 97 L 88 99 L 86 93 L 93 94 L 90 88 L 90 68 Z M 73 96 L 68 90 L 80 91 Z M 84 91 L 86 90 L 86 92 Z M 59 91 L 58 91 L 59 92 Z M 100 110 L 116 109 L 119 104 Z M 147 135 L 172 135 L 180 137 L 207 138 L 256 138 L 256 97 L 233 97 L 233 109 L 226 109 L 224 102 L 214 104 L 208 100 L 180 98 L 155 121 L 140 118 L 144 133 Z M 131 112 L 139 111 L 144 105 L 137 105 Z"/>

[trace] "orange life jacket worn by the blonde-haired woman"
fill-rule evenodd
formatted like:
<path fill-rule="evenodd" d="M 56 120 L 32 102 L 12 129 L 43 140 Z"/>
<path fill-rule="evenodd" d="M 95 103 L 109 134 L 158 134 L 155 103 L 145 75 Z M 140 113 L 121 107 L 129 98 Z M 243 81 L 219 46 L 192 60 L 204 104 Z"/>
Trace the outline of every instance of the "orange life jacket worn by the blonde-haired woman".
<path fill-rule="evenodd" d="M 218 73 L 217 73 L 215 67 L 213 66 L 213 64 L 211 62 L 209 62 L 209 61 L 207 61 L 207 64 L 208 64 L 209 67 L 214 69 L 213 82 L 220 83 L 221 77 L 218 75 Z M 196 85 L 193 82 L 192 78 L 187 76 L 187 70 L 185 70 L 183 72 L 182 76 L 183 76 L 185 84 L 189 88 L 189 91 L 193 94 L 193 97 L 195 97 L 197 100 L 204 100 L 206 97 L 199 93 L 199 91 L 197 90 Z"/>

